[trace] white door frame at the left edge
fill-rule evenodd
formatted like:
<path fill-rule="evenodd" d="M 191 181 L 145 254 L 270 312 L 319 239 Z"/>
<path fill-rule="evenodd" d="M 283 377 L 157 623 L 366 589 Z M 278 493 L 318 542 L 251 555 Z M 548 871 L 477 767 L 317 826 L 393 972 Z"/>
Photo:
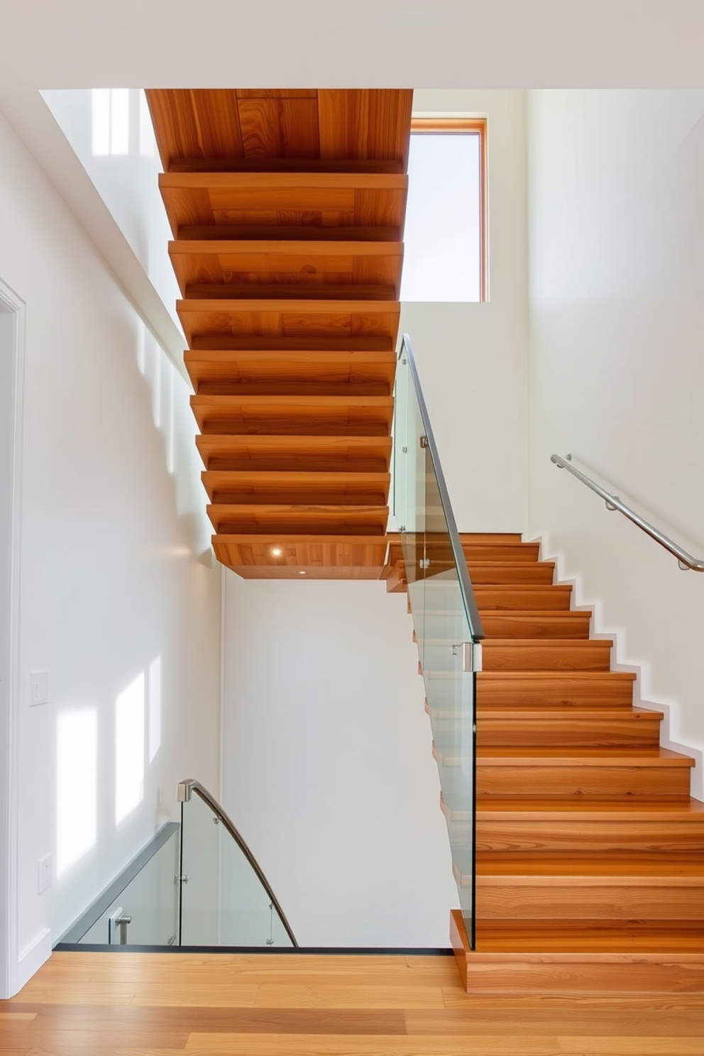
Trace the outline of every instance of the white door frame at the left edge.
<path fill-rule="evenodd" d="M 20 540 L 22 426 L 24 407 L 25 303 L 0 279 L 0 307 L 13 319 L 9 348 L 11 395 L 11 489 L 9 576 L 7 598 L 7 690 L 0 701 L 0 935 L 6 941 L 0 948 L 0 998 L 12 997 L 19 989 L 18 949 L 18 819 L 19 819 L 19 616 L 20 616 Z M 7 350 L 0 347 L 0 355 Z M 0 560 L 4 560 L 0 555 Z"/>

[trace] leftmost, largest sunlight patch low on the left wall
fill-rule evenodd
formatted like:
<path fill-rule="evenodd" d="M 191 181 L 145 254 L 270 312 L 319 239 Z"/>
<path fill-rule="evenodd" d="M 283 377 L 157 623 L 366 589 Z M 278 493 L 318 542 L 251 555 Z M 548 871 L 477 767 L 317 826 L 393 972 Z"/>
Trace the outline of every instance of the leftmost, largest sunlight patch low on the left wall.
<path fill-rule="evenodd" d="M 60 712 L 56 730 L 56 875 L 97 838 L 98 719 L 93 709 Z"/>

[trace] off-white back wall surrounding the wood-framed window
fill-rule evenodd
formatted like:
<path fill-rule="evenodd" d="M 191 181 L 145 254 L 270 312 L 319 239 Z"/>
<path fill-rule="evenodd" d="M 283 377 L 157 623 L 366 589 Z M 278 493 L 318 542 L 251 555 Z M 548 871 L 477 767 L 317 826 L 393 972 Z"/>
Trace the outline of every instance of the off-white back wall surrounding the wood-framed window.
<path fill-rule="evenodd" d="M 524 531 L 527 512 L 526 93 L 416 90 L 414 114 L 488 116 L 490 300 L 405 303 L 460 531 Z"/>

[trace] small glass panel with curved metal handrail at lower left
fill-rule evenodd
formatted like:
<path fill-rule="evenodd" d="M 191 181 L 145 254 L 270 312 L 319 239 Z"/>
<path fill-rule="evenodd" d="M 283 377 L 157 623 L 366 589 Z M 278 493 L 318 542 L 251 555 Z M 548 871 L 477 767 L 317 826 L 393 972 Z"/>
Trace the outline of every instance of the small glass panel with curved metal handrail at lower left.
<path fill-rule="evenodd" d="M 182 946 L 294 946 L 256 859 L 199 781 L 179 781 Z"/>

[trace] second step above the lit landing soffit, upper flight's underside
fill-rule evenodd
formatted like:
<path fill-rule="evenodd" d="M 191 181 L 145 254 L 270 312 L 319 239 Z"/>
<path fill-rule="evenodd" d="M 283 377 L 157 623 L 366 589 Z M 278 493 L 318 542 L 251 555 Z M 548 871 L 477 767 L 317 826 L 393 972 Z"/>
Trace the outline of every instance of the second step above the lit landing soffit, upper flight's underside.
<path fill-rule="evenodd" d="M 215 505 L 305 502 L 385 506 L 391 484 L 388 473 L 206 470 L 201 477 Z"/>

